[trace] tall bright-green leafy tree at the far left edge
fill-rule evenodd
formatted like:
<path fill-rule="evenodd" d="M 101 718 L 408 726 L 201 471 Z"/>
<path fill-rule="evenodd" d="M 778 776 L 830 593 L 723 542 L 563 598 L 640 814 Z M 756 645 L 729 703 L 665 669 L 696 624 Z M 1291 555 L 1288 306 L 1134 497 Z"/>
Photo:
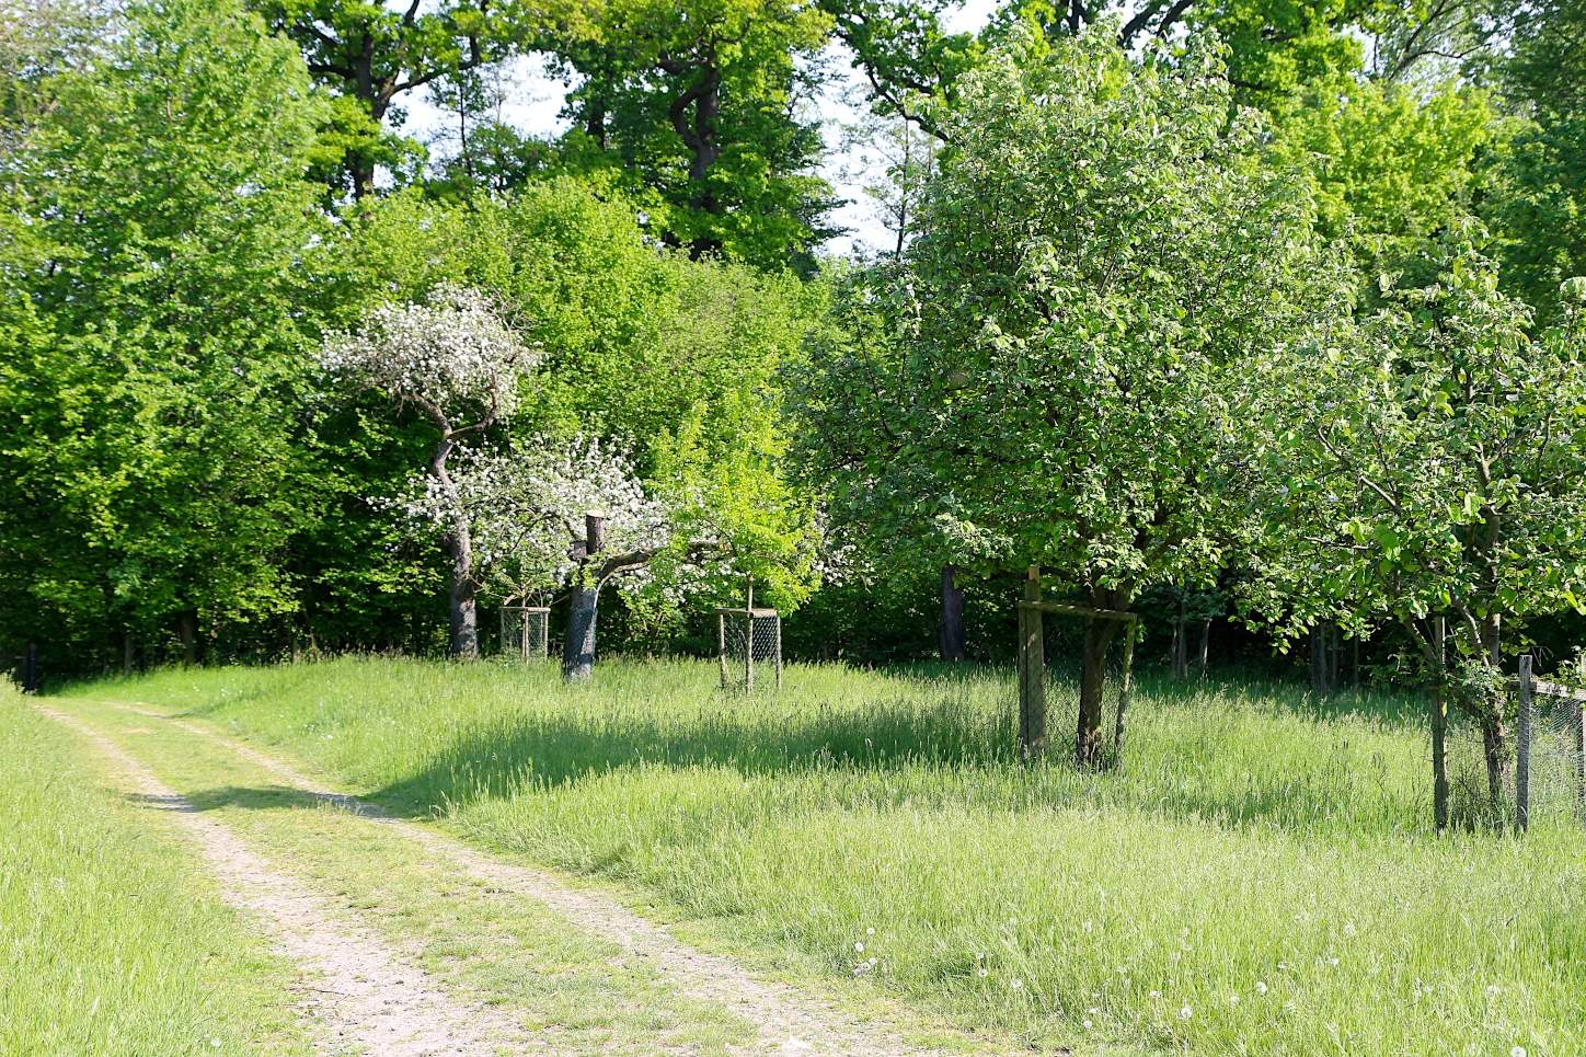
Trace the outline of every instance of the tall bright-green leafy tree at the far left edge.
<path fill-rule="evenodd" d="M 295 603 L 320 113 L 297 51 L 235 3 L 117 14 L 5 163 L 0 594 L 13 632 L 179 624 L 197 646 Z"/>

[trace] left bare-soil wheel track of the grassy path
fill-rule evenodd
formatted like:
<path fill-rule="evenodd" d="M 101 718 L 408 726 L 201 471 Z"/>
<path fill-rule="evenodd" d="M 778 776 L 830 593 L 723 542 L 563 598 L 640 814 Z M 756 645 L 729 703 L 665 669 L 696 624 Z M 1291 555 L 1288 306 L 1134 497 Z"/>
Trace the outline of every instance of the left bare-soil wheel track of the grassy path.
<path fill-rule="evenodd" d="M 125 774 L 146 803 L 173 813 L 195 838 L 205 863 L 220 881 L 222 897 L 257 916 L 270 930 L 276 954 L 305 971 L 298 990 L 327 1019 L 330 1052 L 379 1057 L 462 1054 L 495 1057 L 527 1041 L 511 1017 L 462 1003 L 442 992 L 411 959 L 360 928 L 295 879 L 278 873 L 228 828 L 205 817 L 162 784 L 119 744 L 73 716 L 38 711 L 90 740 Z M 536 1052 L 547 1052 L 542 1044 Z"/>

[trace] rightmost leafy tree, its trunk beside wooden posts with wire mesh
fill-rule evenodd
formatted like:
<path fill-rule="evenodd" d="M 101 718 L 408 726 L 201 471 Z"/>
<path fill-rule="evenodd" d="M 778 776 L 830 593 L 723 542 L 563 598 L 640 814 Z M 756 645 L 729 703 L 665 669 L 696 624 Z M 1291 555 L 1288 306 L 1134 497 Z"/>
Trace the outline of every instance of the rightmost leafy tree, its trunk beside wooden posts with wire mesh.
<path fill-rule="evenodd" d="M 1334 614 L 1358 630 L 1404 627 L 1434 690 L 1453 689 L 1480 724 L 1494 808 L 1513 624 L 1578 609 L 1586 594 L 1575 514 L 1586 503 L 1586 281 L 1565 297 L 1559 325 L 1529 340 L 1529 309 L 1465 246 L 1440 283 L 1296 341 L 1251 375 L 1269 481 L 1255 608 L 1291 630 Z M 1465 662 L 1456 673 L 1432 627 L 1443 616 Z M 1435 779 L 1442 827 L 1446 779 Z"/>

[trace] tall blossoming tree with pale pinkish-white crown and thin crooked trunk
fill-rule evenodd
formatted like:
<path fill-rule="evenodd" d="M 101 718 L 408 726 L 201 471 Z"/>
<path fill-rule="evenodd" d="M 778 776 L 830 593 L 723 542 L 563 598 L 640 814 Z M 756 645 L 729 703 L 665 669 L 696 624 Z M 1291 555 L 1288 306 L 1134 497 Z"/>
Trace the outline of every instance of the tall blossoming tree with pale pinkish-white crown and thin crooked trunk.
<path fill-rule="evenodd" d="M 327 341 L 325 370 L 351 389 L 384 392 L 428 417 L 441 432 L 427 473 L 436 494 L 452 495 L 449 460 L 458 444 L 508 419 L 517 405 L 517 381 L 539 354 L 508 325 L 487 294 L 458 286 L 436 287 L 422 305 L 384 305 L 363 327 Z M 450 652 L 479 655 L 474 540 L 463 505 L 444 525 L 450 551 Z"/>

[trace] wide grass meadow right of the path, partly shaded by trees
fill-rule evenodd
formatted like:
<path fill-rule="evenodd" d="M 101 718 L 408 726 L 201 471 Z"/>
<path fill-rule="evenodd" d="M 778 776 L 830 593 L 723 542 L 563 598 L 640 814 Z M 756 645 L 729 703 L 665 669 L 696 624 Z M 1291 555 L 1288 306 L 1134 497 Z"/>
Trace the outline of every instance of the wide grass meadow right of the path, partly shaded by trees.
<path fill-rule="evenodd" d="M 1039 1046 L 1586 1051 L 1586 838 L 1551 816 L 1524 841 L 1431 835 L 1402 701 L 1147 681 L 1126 767 L 1091 774 L 1017 762 L 1004 671 L 795 667 L 755 698 L 714 679 L 338 660 L 78 692 L 439 806 L 757 963 Z"/>

